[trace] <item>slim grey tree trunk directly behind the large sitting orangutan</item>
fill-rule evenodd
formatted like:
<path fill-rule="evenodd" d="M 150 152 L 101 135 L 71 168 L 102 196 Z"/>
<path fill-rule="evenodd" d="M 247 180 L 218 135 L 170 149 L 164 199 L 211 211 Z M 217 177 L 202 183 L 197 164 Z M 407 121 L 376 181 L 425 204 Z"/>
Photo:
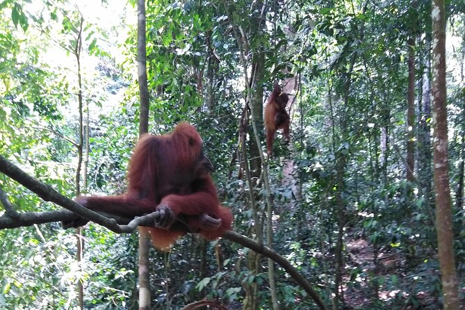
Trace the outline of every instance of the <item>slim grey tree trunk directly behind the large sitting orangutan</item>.
<path fill-rule="evenodd" d="M 137 71 L 140 96 L 139 135 L 149 131 L 149 89 L 147 86 L 147 52 L 145 43 L 145 0 L 137 1 Z M 149 234 L 139 230 L 139 309 L 150 309 Z"/>

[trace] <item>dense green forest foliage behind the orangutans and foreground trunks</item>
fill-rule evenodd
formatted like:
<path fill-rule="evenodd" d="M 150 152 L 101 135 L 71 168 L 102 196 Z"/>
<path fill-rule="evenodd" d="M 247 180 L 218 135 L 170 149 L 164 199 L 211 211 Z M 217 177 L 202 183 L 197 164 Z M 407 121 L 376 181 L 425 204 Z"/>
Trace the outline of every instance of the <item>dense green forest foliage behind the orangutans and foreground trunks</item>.
<path fill-rule="evenodd" d="M 124 192 L 140 108 L 135 6 L 0 3 L 0 154 L 67 197 Z M 282 254 L 333 309 L 443 302 L 431 10 L 421 0 L 146 3 L 149 132 L 195 124 L 234 230 Z M 463 304 L 463 0 L 446 3 L 446 33 Z M 291 94 L 291 142 L 278 133 L 263 171 L 251 117 L 265 149 L 263 104 L 275 81 Z M 4 174 L 0 188 L 17 211 L 60 209 Z M 0 309 L 76 309 L 79 283 L 85 309 L 137 309 L 137 234 L 91 223 L 76 261 L 74 233 L 58 222 L 0 230 Z M 149 267 L 153 309 L 204 297 L 227 309 L 272 309 L 266 257 L 229 240 L 188 235 L 168 253 L 152 249 Z M 282 309 L 316 309 L 282 268 L 274 271 Z"/>

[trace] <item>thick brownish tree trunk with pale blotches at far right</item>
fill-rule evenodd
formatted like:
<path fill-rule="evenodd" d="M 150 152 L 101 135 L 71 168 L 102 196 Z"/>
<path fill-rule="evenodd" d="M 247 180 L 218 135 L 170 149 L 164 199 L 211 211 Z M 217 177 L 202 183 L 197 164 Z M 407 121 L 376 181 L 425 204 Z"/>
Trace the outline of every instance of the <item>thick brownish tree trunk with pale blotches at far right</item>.
<path fill-rule="evenodd" d="M 446 106 L 446 17 L 444 0 L 432 2 L 433 29 L 433 127 L 434 189 L 439 266 L 445 310 L 459 309 L 459 291 L 453 247 L 452 212 L 448 178 L 448 136 Z"/>

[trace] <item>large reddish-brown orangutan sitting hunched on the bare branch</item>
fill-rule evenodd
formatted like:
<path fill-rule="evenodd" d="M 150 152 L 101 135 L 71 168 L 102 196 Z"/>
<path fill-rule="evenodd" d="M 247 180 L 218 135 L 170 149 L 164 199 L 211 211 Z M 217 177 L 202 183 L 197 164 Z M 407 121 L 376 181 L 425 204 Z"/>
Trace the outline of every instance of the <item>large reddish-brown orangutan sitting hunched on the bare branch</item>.
<path fill-rule="evenodd" d="M 191 124 L 181 122 L 172 133 L 145 134 L 134 148 L 128 170 L 127 193 L 109 197 L 77 197 L 94 211 L 134 218 L 158 211 L 155 227 L 144 227 L 152 243 L 166 250 L 187 232 L 213 240 L 231 229 L 233 216 L 220 205 L 211 172 L 202 151 L 202 138 Z M 88 222 L 63 222 L 64 228 Z"/>

